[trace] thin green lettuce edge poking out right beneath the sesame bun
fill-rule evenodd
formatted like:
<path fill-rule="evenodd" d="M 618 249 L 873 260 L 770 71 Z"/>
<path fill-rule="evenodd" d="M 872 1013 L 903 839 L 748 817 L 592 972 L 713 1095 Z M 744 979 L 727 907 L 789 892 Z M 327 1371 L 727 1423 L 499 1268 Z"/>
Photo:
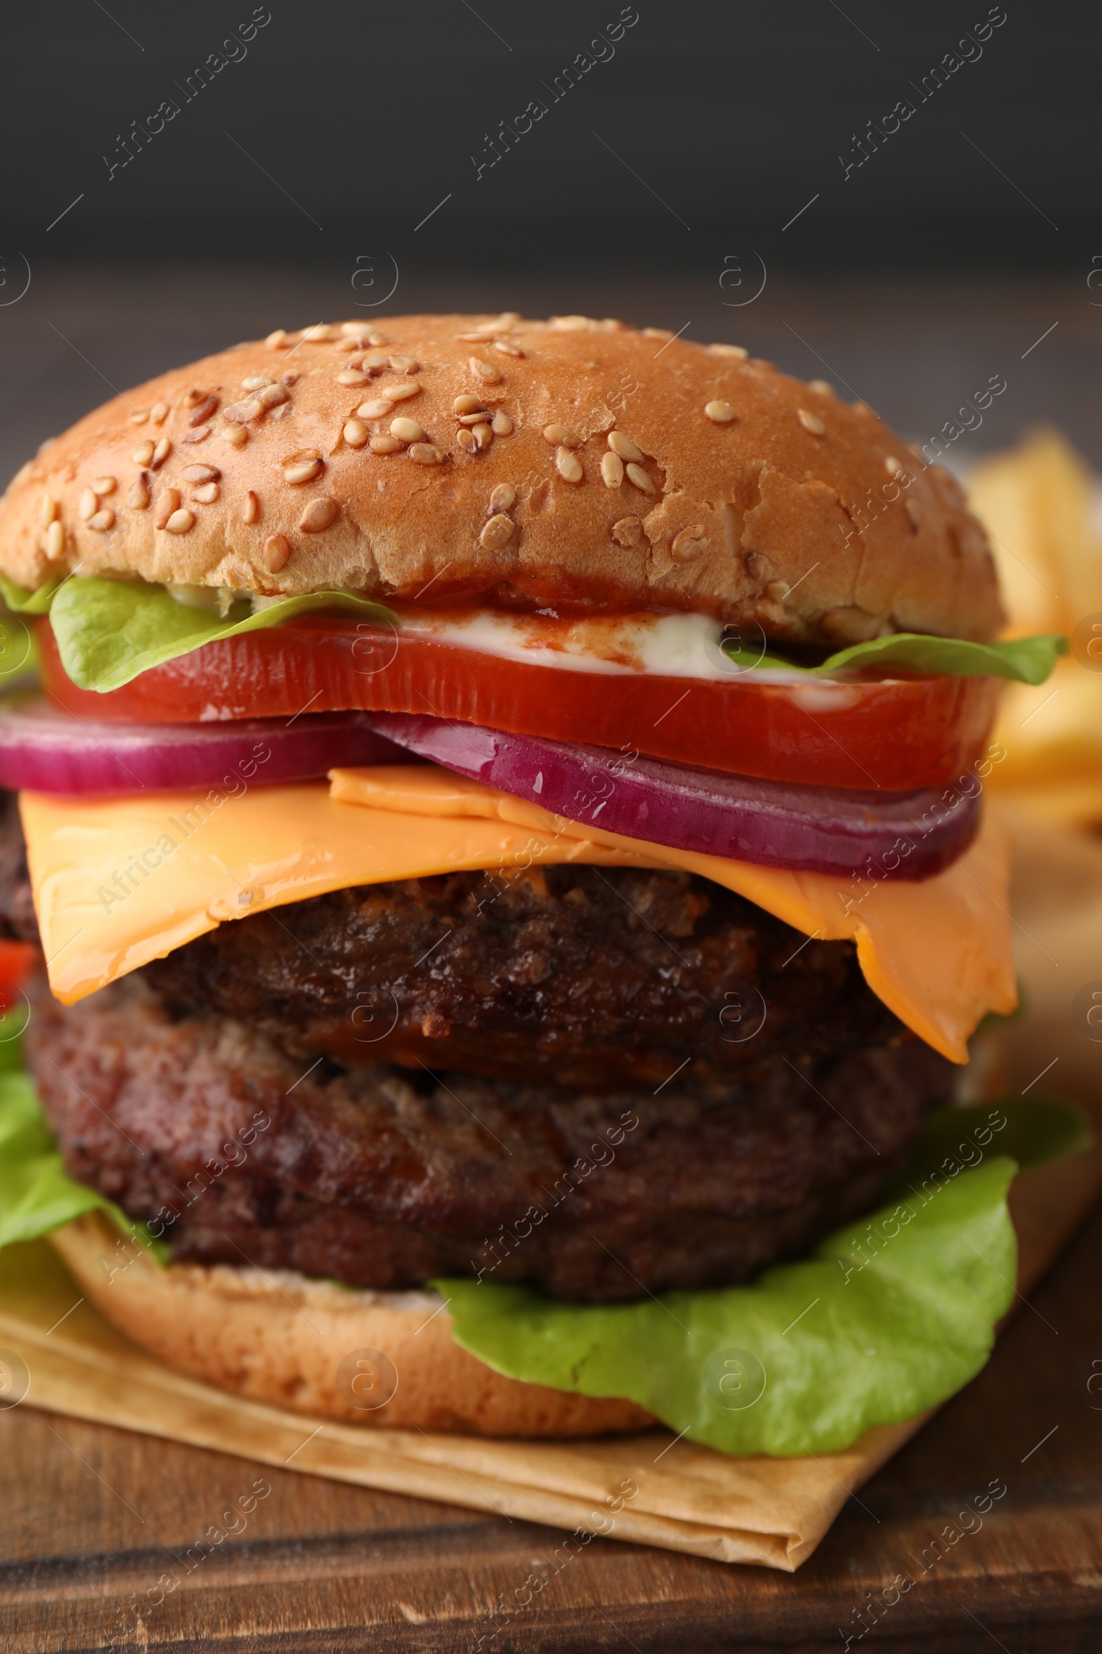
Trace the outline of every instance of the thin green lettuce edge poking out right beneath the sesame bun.
<path fill-rule="evenodd" d="M 968 643 L 962 637 L 925 637 L 920 632 L 897 632 L 874 637 L 869 643 L 839 648 L 821 667 L 800 667 L 781 655 L 760 655 L 752 648 L 724 645 L 724 653 L 745 668 L 783 668 L 824 676 L 843 667 L 900 672 L 932 672 L 950 678 L 1014 678 L 1018 683 L 1044 683 L 1057 655 L 1067 653 L 1067 638 L 1056 632 L 1014 637 L 1006 643 Z"/>

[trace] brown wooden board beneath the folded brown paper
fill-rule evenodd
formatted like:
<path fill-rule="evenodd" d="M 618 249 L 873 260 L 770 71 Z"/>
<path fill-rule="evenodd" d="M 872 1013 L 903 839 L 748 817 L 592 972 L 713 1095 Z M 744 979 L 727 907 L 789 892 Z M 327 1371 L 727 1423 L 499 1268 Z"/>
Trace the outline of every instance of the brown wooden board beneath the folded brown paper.
<path fill-rule="evenodd" d="M 10 1654 L 220 1649 L 843 1647 L 866 1593 L 891 1651 L 1095 1651 L 1102 1644 L 1102 1216 L 1006 1331 L 985 1373 L 857 1499 L 796 1575 L 593 1543 L 492 1636 L 562 1535 L 446 1505 L 268 1470 L 243 1459 L 81 1424 L 0 1413 L 0 1646 Z M 182 1573 L 208 1523 L 264 1477 L 245 1530 L 137 1629 L 127 1594 Z M 990 1482 L 975 1532 L 950 1543 Z M 975 1505 L 971 1507 L 975 1510 Z M 940 1537 L 940 1542 L 938 1542 Z M 937 1555 L 932 1548 L 938 1542 Z M 925 1560 L 924 1560 L 925 1551 Z M 524 1593 L 520 1593 L 524 1594 Z M 889 1596 L 892 1591 L 889 1589 Z M 501 1618 L 501 1616 L 499 1616 Z M 867 1614 L 866 1614 L 867 1619 Z M 998 1642 L 991 1641 L 996 1637 Z M 854 1642 L 854 1646 L 857 1646 Z"/>

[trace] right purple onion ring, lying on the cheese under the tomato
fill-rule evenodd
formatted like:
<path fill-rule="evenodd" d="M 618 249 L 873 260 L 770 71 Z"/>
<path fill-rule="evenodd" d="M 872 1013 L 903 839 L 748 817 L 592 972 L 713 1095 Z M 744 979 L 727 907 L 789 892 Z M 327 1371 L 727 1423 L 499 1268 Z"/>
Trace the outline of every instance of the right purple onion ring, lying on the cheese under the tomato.
<path fill-rule="evenodd" d="M 857 792 L 691 769 L 638 753 L 507 734 L 408 713 L 372 713 L 392 741 L 557 815 L 674 850 L 844 878 L 920 880 L 971 844 L 976 776 L 958 789 Z"/>

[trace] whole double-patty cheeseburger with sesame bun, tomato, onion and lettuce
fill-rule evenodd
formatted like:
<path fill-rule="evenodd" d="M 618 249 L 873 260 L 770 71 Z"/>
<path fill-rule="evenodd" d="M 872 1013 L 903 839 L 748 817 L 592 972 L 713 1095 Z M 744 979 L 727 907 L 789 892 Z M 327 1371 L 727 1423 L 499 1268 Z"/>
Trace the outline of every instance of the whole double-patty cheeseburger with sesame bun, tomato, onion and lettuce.
<path fill-rule="evenodd" d="M 0 574 L 3 1237 L 363 1424 L 800 1454 L 978 1370 L 981 794 L 1059 640 L 871 409 L 580 316 L 279 329 L 45 443 Z"/>

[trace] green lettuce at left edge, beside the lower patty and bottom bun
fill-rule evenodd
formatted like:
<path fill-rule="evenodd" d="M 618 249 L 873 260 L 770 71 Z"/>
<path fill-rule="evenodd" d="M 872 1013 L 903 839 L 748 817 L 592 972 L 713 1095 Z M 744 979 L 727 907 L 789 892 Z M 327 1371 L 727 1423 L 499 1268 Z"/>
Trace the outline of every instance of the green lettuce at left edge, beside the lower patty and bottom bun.
<path fill-rule="evenodd" d="M 18 1042 L 0 1045 L 0 1247 L 36 1240 L 84 1212 L 106 1212 L 124 1234 L 147 1245 L 159 1262 L 169 1247 L 154 1240 L 114 1201 L 74 1183 L 55 1145 L 30 1075 L 18 1068 Z"/>

